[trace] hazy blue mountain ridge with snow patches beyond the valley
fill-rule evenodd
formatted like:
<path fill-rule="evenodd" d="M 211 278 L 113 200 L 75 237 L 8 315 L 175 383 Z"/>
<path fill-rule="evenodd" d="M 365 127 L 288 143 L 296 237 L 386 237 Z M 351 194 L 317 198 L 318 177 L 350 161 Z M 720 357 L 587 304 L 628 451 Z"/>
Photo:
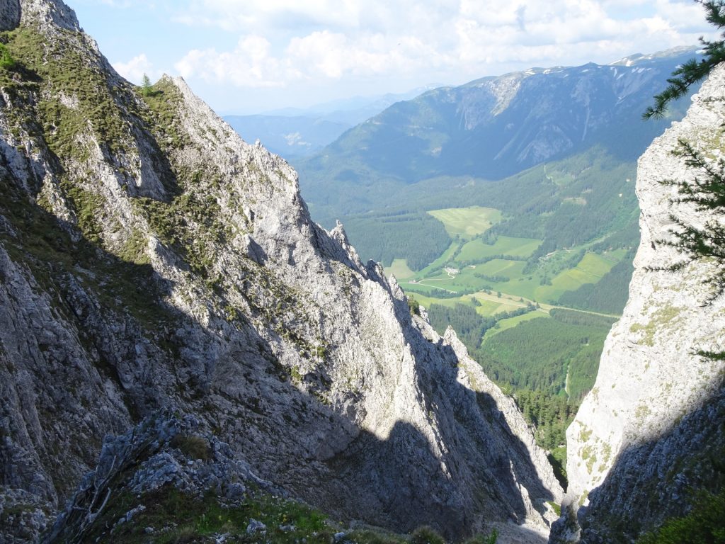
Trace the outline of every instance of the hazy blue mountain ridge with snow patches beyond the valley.
<path fill-rule="evenodd" d="M 436 176 L 502 179 L 594 145 L 634 162 L 670 120 L 634 123 L 674 68 L 697 48 L 611 65 L 531 68 L 398 102 L 296 161 L 303 192 L 325 215 L 361 213 L 352 187 L 415 184 Z M 673 118 L 684 112 L 675 111 Z M 357 195 L 356 195 L 357 197 Z M 319 210 L 319 208 L 318 208 Z M 331 216 L 330 215 L 330 216 Z"/>

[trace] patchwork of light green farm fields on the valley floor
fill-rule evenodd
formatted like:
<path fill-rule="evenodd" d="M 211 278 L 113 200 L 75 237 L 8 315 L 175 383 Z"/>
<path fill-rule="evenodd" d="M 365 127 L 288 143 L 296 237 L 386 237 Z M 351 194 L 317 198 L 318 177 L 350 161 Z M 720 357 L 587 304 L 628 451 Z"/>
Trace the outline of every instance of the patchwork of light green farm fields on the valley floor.
<path fill-rule="evenodd" d="M 396 259 L 386 273 L 396 276 L 407 292 L 429 300 L 456 300 L 473 293 L 493 292 L 513 299 L 557 305 L 566 292 L 597 284 L 626 255 L 626 250 L 593 252 L 592 244 L 550 252 L 531 262 L 542 240 L 515 236 L 489 236 L 486 230 L 502 221 L 503 214 L 479 206 L 428 212 L 444 224 L 454 239 L 450 247 L 419 272 Z M 491 242 L 491 243 L 487 243 Z M 457 302 L 465 302 L 458 299 Z M 450 304 L 451 302 L 447 302 Z M 500 313 L 488 303 L 484 315 Z"/>

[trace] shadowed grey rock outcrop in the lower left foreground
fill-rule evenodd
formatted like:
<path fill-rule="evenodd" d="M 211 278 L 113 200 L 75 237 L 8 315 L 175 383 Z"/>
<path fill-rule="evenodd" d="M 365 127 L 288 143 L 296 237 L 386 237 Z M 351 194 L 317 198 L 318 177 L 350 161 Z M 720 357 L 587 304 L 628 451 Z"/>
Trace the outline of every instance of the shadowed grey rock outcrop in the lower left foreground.
<path fill-rule="evenodd" d="M 253 490 L 284 495 L 257 477 L 228 444 L 199 434 L 194 417 L 159 413 L 125 434 L 107 437 L 96 468 L 83 479 L 43 543 L 96 540 L 94 532 L 100 533 L 101 541 L 112 542 L 124 524 L 137 522 L 146 510 L 141 498 L 155 495 L 159 500 L 170 489 L 191 501 L 211 496 L 225 508 L 249 501 Z M 115 504 L 123 502 L 121 497 L 136 498 L 135 504 Z M 123 515 L 114 516 L 112 510 L 117 514 L 119 507 Z M 104 517 L 109 523 L 101 522 Z M 167 527 L 174 523 L 165 520 Z"/>

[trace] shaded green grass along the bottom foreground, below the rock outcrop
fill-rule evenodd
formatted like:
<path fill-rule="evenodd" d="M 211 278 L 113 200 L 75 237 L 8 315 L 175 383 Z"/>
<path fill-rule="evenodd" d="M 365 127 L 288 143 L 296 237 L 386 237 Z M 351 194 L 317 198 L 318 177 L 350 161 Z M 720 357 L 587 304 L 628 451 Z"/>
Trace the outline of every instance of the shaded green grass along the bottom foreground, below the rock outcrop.
<path fill-rule="evenodd" d="M 133 508 L 133 522 L 117 520 Z M 254 522 L 264 528 L 247 530 Z M 252 525 L 253 527 L 253 525 Z M 147 528 L 151 529 L 149 532 Z M 214 493 L 192 497 L 167 485 L 142 495 L 115 495 L 84 535 L 84 542 L 117 544 L 214 544 L 225 535 L 226 542 L 246 544 L 330 544 L 343 532 L 344 541 L 357 544 L 445 544 L 434 529 L 422 526 L 410 535 L 378 527 L 347 527 L 326 514 L 297 500 L 269 493 L 249 493 L 239 503 L 226 506 Z M 468 544 L 495 544 L 495 531 L 466 540 Z"/>

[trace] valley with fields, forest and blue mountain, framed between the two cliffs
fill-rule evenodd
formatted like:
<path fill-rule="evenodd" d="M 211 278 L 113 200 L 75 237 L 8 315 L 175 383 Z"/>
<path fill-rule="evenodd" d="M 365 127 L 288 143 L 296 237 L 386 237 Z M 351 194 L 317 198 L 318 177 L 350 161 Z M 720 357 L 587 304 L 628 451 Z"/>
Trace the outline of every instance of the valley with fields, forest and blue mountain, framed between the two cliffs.
<path fill-rule="evenodd" d="M 566 426 L 592 389 L 639 243 L 636 161 L 679 120 L 642 120 L 694 48 L 532 68 L 399 102 L 294 159 L 313 218 L 345 218 L 443 333 L 513 392 L 566 484 Z M 573 310 L 573 311 L 572 311 Z"/>

